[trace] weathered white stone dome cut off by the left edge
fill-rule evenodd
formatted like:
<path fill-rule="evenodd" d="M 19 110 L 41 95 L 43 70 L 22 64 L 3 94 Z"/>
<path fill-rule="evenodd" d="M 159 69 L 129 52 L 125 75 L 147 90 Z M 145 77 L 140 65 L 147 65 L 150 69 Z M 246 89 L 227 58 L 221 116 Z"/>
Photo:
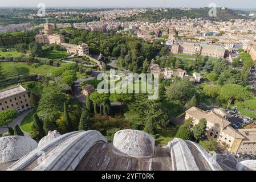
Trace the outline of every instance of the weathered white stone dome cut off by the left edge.
<path fill-rule="evenodd" d="M 9 136 L 0 138 L 0 164 L 21 159 L 37 147 L 30 137 Z"/>

